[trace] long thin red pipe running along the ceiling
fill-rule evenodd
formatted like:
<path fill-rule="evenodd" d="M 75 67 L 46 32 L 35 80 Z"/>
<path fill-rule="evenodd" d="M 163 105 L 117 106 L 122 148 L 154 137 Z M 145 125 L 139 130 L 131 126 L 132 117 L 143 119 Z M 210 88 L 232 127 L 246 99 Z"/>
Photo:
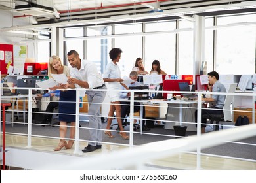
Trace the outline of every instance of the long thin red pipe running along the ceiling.
<path fill-rule="evenodd" d="M 88 10 L 100 10 L 100 9 L 106 9 L 106 8 L 118 8 L 118 7 L 129 7 L 129 6 L 134 6 L 134 5 L 143 5 L 143 4 L 148 4 L 148 3 L 159 3 L 159 2 L 165 2 L 169 0 L 155 0 L 155 1 L 143 1 L 143 2 L 135 2 L 135 3 L 126 3 L 126 4 L 121 4 L 121 5 L 111 5 L 111 6 L 102 6 L 102 3 L 100 7 L 93 7 L 93 8 L 82 8 L 82 9 L 77 9 L 77 10 L 64 10 L 64 11 L 58 11 L 60 14 L 63 13 L 70 13 L 70 12 L 81 12 L 81 11 L 88 11 Z"/>

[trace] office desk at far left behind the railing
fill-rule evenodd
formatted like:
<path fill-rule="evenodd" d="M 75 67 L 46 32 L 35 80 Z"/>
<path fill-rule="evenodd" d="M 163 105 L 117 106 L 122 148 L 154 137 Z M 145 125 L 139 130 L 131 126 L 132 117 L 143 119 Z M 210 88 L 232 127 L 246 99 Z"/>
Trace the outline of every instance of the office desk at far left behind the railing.
<path fill-rule="evenodd" d="M 12 103 L 12 127 L 14 127 L 14 106 L 15 106 L 15 99 L 26 99 L 29 95 L 1 95 L 1 100 L 11 100 Z M 36 97 L 37 95 L 32 95 L 32 97 Z M 25 100 L 23 101 L 23 103 Z M 24 103 L 25 104 L 25 103 Z M 25 105 L 23 105 L 23 122 L 25 124 Z"/>

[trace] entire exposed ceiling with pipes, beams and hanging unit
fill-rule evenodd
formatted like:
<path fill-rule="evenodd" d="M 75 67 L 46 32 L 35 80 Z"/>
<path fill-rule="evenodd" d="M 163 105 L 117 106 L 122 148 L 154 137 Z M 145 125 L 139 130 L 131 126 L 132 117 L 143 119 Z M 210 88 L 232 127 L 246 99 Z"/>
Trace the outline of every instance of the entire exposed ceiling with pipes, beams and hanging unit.
<path fill-rule="evenodd" d="M 104 25 L 151 20 L 171 20 L 256 12 L 256 1 L 241 0 L 0 0 L 1 12 L 9 13 L 8 24 L 0 24 L 0 34 L 38 34 L 49 27 Z M 3 17 L 3 16 L 1 16 Z M 16 25 L 14 22 L 23 21 Z M 8 22 L 8 21 L 5 21 Z M 11 24 L 11 26 L 9 26 Z"/>

